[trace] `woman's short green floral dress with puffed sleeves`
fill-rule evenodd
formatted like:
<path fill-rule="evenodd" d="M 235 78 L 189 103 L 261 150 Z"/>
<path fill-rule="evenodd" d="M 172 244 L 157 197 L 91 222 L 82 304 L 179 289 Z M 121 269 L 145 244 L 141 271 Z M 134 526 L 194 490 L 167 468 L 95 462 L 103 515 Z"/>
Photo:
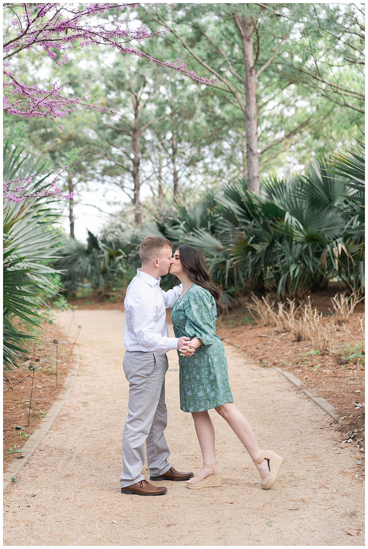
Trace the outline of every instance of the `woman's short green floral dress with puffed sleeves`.
<path fill-rule="evenodd" d="M 193 356 L 179 355 L 180 408 L 183 412 L 203 412 L 225 402 L 233 402 L 227 376 L 224 345 L 216 335 L 217 311 L 213 296 L 193 284 L 171 309 L 177 338 L 196 336 L 203 342 Z"/>

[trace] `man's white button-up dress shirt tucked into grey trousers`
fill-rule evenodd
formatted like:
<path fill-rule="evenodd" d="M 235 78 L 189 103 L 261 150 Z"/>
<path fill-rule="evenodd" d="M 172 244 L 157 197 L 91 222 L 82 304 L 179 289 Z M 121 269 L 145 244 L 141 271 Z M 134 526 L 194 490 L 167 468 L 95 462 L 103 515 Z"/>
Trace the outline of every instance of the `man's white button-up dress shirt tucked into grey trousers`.
<path fill-rule="evenodd" d="M 164 353 L 177 349 L 179 338 L 168 337 L 166 309 L 179 298 L 182 289 L 181 284 L 164 292 L 160 288 L 160 277 L 154 278 L 137 269 L 124 300 L 126 351 Z"/>

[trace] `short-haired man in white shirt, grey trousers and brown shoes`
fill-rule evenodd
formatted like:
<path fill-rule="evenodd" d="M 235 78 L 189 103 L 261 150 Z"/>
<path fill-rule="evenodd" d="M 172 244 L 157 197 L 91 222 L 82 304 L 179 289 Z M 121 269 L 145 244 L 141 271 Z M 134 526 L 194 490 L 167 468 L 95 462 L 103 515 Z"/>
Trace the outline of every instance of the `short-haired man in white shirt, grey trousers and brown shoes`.
<path fill-rule="evenodd" d="M 150 480 L 188 480 L 193 473 L 180 473 L 168 462 L 169 447 L 164 430 L 168 421 L 165 404 L 165 374 L 169 363 L 166 352 L 183 349 L 187 337 L 169 338 L 166 310 L 179 297 L 182 286 L 168 292 L 160 288 L 160 276 L 167 275 L 174 262 L 170 240 L 147 237 L 141 243 L 142 267 L 137 269 L 124 300 L 125 355 L 122 362 L 129 381 L 128 415 L 122 435 L 120 485 L 122 494 L 158 496 L 167 491 L 144 480 L 144 442 Z"/>

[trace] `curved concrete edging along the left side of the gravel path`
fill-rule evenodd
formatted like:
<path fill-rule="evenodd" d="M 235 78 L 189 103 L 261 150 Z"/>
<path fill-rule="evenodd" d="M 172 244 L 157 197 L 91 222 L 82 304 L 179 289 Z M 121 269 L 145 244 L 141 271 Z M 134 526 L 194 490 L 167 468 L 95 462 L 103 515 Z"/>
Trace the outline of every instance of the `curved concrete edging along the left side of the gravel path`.
<path fill-rule="evenodd" d="M 71 393 L 71 389 L 73 389 L 75 378 L 80 366 L 80 357 L 78 352 L 73 353 L 73 359 L 74 359 L 73 362 L 75 363 L 75 366 L 71 369 L 71 371 L 65 377 L 63 389 L 60 391 L 57 399 L 55 400 L 54 404 L 51 406 L 51 408 L 47 412 L 46 416 L 41 420 L 41 423 L 40 425 L 38 425 L 38 428 L 27 439 L 27 441 L 25 442 L 25 445 L 19 452 L 19 453 L 23 453 L 25 457 L 22 458 L 21 460 L 13 460 L 12 462 L 10 462 L 8 465 L 8 470 L 3 473 L 3 483 L 4 483 L 3 494 L 8 490 L 10 484 L 12 484 L 11 477 L 16 477 L 16 475 L 20 473 L 21 469 L 23 469 L 25 464 L 29 461 L 30 457 L 34 454 L 36 448 L 40 445 L 40 442 L 43 439 L 43 437 L 47 435 L 55 419 L 58 417 L 60 410 L 62 410 L 62 407 L 66 402 L 66 399 L 68 399 L 68 396 Z"/>

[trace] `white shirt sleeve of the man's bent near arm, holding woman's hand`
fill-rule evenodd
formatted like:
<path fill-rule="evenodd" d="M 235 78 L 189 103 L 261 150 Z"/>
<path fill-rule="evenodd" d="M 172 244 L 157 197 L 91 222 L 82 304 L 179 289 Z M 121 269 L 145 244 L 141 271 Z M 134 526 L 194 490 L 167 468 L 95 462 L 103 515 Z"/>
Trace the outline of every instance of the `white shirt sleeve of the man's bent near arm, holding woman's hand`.
<path fill-rule="evenodd" d="M 152 299 L 148 299 L 145 294 L 136 296 L 134 300 L 130 300 L 129 309 L 133 331 L 142 347 L 150 352 L 162 353 L 177 349 L 179 338 L 169 338 L 167 335 L 153 332 L 157 307 Z"/>

